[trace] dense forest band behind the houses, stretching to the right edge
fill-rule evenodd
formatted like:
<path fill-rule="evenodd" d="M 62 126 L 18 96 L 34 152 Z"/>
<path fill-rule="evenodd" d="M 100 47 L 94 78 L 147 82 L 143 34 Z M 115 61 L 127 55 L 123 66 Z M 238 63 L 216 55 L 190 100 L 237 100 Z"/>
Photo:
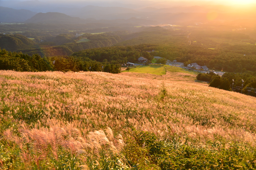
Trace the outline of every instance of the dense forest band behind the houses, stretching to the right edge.
<path fill-rule="evenodd" d="M 242 48 L 242 47 L 241 47 Z M 244 51 L 247 50 L 245 46 Z M 253 51 L 255 46 L 251 46 L 249 50 Z M 147 53 L 146 51 L 155 50 Z M 248 51 L 249 51 L 248 50 Z M 256 49 L 255 49 L 256 50 Z M 252 52 L 254 53 L 254 52 Z M 152 60 L 154 56 L 163 57 L 169 60 L 178 60 L 179 62 L 204 64 L 211 69 L 221 70 L 226 72 L 241 73 L 246 70 L 255 71 L 256 55 L 243 55 L 241 51 L 231 51 L 223 49 L 208 49 L 200 46 L 191 45 L 154 45 L 140 44 L 135 46 L 116 46 L 97 49 L 88 49 L 79 51 L 73 54 L 74 56 L 88 57 L 93 60 L 103 61 L 122 60 L 126 57 L 129 62 L 136 62 L 137 58 L 143 56 Z"/>

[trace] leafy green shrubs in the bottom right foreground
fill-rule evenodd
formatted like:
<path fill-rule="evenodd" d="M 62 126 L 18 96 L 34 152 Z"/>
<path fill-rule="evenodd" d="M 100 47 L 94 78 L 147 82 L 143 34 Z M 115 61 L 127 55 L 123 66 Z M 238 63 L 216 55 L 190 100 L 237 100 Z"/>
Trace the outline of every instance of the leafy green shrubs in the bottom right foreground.
<path fill-rule="evenodd" d="M 149 132 L 136 132 L 127 143 L 126 159 L 134 169 L 256 169 L 256 148 L 240 143 L 189 145 L 175 139 L 159 141 Z"/>

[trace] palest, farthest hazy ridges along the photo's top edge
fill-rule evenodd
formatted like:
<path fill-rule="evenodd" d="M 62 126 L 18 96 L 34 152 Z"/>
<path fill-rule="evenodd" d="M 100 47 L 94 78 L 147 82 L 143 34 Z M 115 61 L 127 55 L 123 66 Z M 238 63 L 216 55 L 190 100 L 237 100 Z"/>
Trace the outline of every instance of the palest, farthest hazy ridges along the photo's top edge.
<path fill-rule="evenodd" d="M 225 2 L 225 1 L 223 1 Z M 144 0 L 115 0 L 115 1 L 104 1 L 104 0 L 87 0 L 87 1 L 38 1 L 38 0 L 29 0 L 29 1 L 19 1 L 19 0 L 0 0 L 0 6 L 14 8 L 14 9 L 27 9 L 34 12 L 60 12 L 65 13 L 64 11 L 60 11 L 60 9 L 81 9 L 85 6 L 100 6 L 100 7 L 123 7 L 130 9 L 144 9 L 146 7 L 156 8 L 156 9 L 164 9 L 164 8 L 186 8 L 191 6 L 201 6 L 206 8 L 211 8 L 208 6 L 220 6 L 222 5 L 225 11 L 229 7 L 221 4 L 220 1 L 203 1 L 203 0 L 195 0 L 195 1 L 144 1 Z M 232 5 L 229 5 L 233 7 Z M 242 7 L 242 5 L 236 5 L 238 9 Z M 69 11 L 67 10 L 67 12 Z M 186 12 L 186 11 L 180 11 Z M 192 11 L 188 11 L 192 12 Z M 202 12 L 202 11 L 196 11 Z M 66 14 L 66 13 L 65 13 Z M 70 14 L 67 14 L 70 15 Z"/>

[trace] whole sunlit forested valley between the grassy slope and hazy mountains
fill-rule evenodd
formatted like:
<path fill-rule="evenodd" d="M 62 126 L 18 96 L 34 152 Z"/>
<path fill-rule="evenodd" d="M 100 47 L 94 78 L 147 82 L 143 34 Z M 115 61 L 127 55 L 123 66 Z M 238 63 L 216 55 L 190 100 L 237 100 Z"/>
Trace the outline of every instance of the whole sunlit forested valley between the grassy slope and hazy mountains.
<path fill-rule="evenodd" d="M 15 29 L 17 24 L 14 25 L 16 26 L 8 27 Z M 24 24 L 20 25 L 24 27 Z M 32 26 L 37 30 L 36 24 Z M 46 28 L 53 30 L 55 27 L 46 24 Z M 103 62 L 105 59 L 113 64 L 122 64 L 136 62 L 141 56 L 149 60 L 159 56 L 171 61 L 176 59 L 185 65 L 196 62 L 210 69 L 223 69 L 224 72 L 243 73 L 256 70 L 256 40 L 251 38 L 252 32 L 248 35 L 237 31 L 172 30 L 159 26 L 140 29 L 140 32 L 135 33 L 122 30 L 101 34 L 73 31 L 56 36 L 48 32 L 48 37 L 38 36 L 33 41 L 19 34 L 0 34 L 0 47 L 48 59 L 72 56 L 80 60 L 89 58 Z M 56 27 L 56 30 L 60 31 L 60 28 Z M 84 39 L 87 41 L 82 41 Z M 151 50 L 155 51 L 146 52 Z"/>

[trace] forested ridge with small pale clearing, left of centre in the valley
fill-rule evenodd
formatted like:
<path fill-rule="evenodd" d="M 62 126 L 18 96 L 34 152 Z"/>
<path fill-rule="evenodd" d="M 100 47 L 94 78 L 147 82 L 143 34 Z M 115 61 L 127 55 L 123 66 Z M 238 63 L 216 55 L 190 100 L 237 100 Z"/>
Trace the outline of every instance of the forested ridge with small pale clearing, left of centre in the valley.
<path fill-rule="evenodd" d="M 86 37 L 90 41 L 77 43 L 77 41 L 83 37 Z M 71 55 L 74 52 L 78 52 L 84 49 L 108 47 L 121 41 L 122 38 L 120 36 L 110 34 L 93 35 L 86 33 L 80 37 L 76 37 L 73 34 L 60 34 L 56 36 L 52 41 L 42 42 L 38 45 L 34 45 L 34 48 L 21 49 L 16 51 L 21 51 L 22 53 L 28 55 L 39 54 L 42 57 L 50 57 L 58 55 Z"/>

